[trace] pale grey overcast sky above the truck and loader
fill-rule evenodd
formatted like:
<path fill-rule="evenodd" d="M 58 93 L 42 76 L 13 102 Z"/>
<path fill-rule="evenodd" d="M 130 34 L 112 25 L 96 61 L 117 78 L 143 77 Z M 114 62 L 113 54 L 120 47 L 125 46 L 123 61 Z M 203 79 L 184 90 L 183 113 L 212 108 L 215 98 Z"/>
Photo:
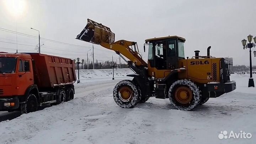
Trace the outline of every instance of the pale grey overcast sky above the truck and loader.
<path fill-rule="evenodd" d="M 206 55 L 207 47 L 212 46 L 212 56 L 233 57 L 234 65 L 249 65 L 249 49 L 242 49 L 241 40 L 256 35 L 256 0 L 13 0 L 22 5 L 18 16 L 9 1 L 0 0 L 0 28 L 17 28 L 17 32 L 37 36 L 38 32 L 30 29 L 33 27 L 43 38 L 92 47 L 91 43 L 75 39 L 90 18 L 110 27 L 116 41 L 138 42 L 144 59 L 145 39 L 177 35 L 186 38 L 186 57 L 192 57 L 194 50 Z M 0 41 L 16 43 L 16 34 L 0 31 Z M 38 39 L 17 35 L 17 43 L 35 46 Z M 41 44 L 48 47 L 42 46 L 42 53 L 69 58 L 86 59 L 89 50 L 43 40 Z M 18 50 L 33 51 L 32 46 L 18 45 Z M 0 42 L 0 51 L 15 52 L 3 48 L 16 49 L 16 44 Z M 111 60 L 113 54 L 114 59 L 119 58 L 111 50 L 99 45 L 95 48 L 98 60 Z M 256 65 L 255 57 L 252 64 Z"/>

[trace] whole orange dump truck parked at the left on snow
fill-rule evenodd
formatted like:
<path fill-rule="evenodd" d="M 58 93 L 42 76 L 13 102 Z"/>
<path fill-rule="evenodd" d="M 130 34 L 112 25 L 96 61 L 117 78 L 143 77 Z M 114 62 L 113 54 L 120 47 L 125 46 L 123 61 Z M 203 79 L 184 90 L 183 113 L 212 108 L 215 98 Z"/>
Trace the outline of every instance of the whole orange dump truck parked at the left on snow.
<path fill-rule="evenodd" d="M 39 53 L 0 52 L 0 111 L 29 113 L 74 98 L 73 60 Z"/>

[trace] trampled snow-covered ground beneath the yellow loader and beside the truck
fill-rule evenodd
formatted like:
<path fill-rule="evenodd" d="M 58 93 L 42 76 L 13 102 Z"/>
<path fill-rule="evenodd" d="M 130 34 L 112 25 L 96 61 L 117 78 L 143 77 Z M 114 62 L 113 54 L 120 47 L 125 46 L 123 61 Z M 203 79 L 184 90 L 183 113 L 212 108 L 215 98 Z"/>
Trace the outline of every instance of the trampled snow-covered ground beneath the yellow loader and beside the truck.
<path fill-rule="evenodd" d="M 0 122 L 0 143 L 250 143 L 256 142 L 256 88 L 248 75 L 231 75 L 237 89 L 194 111 L 175 110 L 168 99 L 151 97 L 124 109 L 112 97 L 121 79 L 81 79 L 75 99 Z M 109 80 L 106 80 L 109 79 Z M 251 139 L 218 139 L 220 131 L 240 130 Z"/>

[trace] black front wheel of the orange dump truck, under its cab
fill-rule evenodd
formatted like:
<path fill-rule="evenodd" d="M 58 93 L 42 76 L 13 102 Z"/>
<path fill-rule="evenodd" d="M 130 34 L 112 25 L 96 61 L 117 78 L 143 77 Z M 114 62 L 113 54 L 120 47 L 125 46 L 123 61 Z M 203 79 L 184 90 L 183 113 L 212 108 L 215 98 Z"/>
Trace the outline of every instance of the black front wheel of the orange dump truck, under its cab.
<path fill-rule="evenodd" d="M 26 102 L 21 103 L 21 114 L 37 111 L 37 98 L 34 94 L 29 94 Z"/>

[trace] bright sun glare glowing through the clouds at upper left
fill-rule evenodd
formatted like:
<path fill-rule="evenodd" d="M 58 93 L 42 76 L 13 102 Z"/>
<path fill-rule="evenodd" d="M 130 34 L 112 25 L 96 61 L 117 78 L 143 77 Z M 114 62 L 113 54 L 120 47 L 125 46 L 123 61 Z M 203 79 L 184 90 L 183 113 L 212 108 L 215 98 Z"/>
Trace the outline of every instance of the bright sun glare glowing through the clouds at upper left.
<path fill-rule="evenodd" d="M 21 16 L 26 8 L 25 0 L 5 0 L 4 4 L 10 14 L 15 17 Z"/>

